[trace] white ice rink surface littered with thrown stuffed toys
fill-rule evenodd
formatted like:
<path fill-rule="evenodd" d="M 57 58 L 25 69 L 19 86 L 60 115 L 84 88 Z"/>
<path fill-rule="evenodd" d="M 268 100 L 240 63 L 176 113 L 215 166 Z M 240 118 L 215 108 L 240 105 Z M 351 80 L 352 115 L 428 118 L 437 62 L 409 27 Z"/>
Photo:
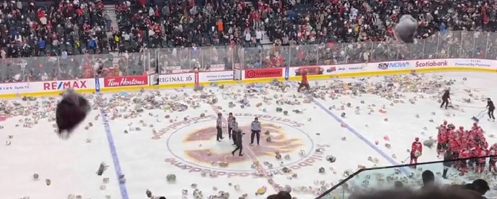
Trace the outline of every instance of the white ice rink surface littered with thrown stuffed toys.
<path fill-rule="evenodd" d="M 187 198 L 193 198 L 194 189 L 202 191 L 204 198 L 224 191 L 230 194 L 230 198 L 247 194 L 248 199 L 263 199 L 275 193 L 277 185 L 296 188 L 292 195 L 299 199 L 312 199 L 316 196 L 313 191 L 331 188 L 345 178 L 343 174 L 346 171 L 351 174 L 360 166 L 369 168 L 402 164 L 409 156 L 406 150 L 411 148 L 414 137 L 419 137 L 421 141 L 430 136 L 436 138 L 435 127 L 444 120 L 456 127 L 471 127 L 473 121 L 470 118 L 478 115 L 486 106 L 486 102 L 475 100 L 475 97 L 497 99 L 494 74 L 425 74 L 422 81 L 432 86 L 435 83 L 429 81 L 441 75 L 443 80 L 455 80 L 453 85 L 442 85 L 442 88 L 451 88 L 453 104 L 459 105 L 464 111 L 439 108 L 436 101 L 439 97 L 435 97 L 436 100 L 430 99 L 430 96 L 438 96 L 438 93 L 402 91 L 392 92 L 405 95 L 405 99 L 400 99 L 405 103 L 394 103 L 393 106 L 390 105 L 391 100 L 370 94 L 339 95 L 333 100 L 329 98 L 328 90 L 323 91 L 326 93 L 324 100 L 315 99 L 305 103 L 306 96 L 296 92 L 296 83 L 290 83 L 292 88 L 286 93 L 262 89 L 267 92 L 248 94 L 250 105 L 244 108 L 240 106 L 239 100 L 244 98 L 247 85 L 227 86 L 225 89 L 206 87 L 203 92 L 206 99 L 200 99 L 202 93 L 193 92 L 192 89 L 161 90 L 161 96 L 155 97 L 156 100 L 162 98 L 169 104 L 187 104 L 190 101 L 189 107 L 184 111 L 173 111 L 173 107 L 166 105 L 162 109 L 145 109 L 136 117 L 129 116 L 129 110 L 135 108 L 132 99 L 144 100 L 144 96 L 151 95 L 150 91 L 143 94 L 104 94 L 106 107 L 109 104 L 115 107 L 109 109 L 110 112 L 103 119 L 100 110 L 91 111 L 67 140 L 60 139 L 54 133 L 55 122 L 48 121 L 48 118 L 41 118 L 38 124 L 26 128 L 23 127 L 24 118 L 33 118 L 33 115 L 10 117 L 0 121 L 3 126 L 0 137 L 3 142 L 11 142 L 10 145 L 0 146 L 0 199 L 25 196 L 61 199 L 71 194 L 81 195 L 83 199 L 103 199 L 106 196 L 112 199 L 140 199 L 146 197 L 147 189 L 155 196 L 166 196 L 168 199 L 182 198 L 182 190 L 188 191 Z M 467 81 L 463 81 L 464 77 Z M 366 79 L 369 82 L 381 82 L 384 77 Z M 345 83 L 361 81 L 339 80 Z M 311 82 L 311 86 L 326 86 L 333 81 L 335 80 Z M 402 86 L 407 87 L 409 86 Z M 473 97 L 469 97 L 465 90 L 470 90 Z M 188 96 L 185 97 L 184 94 Z M 219 101 L 207 103 L 207 100 L 212 99 L 211 95 Z M 275 95 L 277 99 L 274 99 Z M 112 103 L 110 99 L 115 97 L 121 100 Z M 264 97 L 271 100 L 265 102 Z M 409 99 L 414 97 L 417 100 L 412 104 Z M 470 103 L 462 101 L 468 98 L 471 98 Z M 297 100 L 300 104 L 276 104 L 276 100 L 281 99 Z M 15 101 L 22 104 L 19 106 L 31 110 L 38 108 L 36 111 L 50 112 L 55 104 L 43 103 L 43 100 Z M 3 103 L 8 106 L 13 105 L 13 101 Z M 90 101 L 95 101 L 95 98 Z M 196 101 L 198 107 L 192 107 L 192 101 Z M 236 106 L 230 108 L 230 102 L 234 102 Z M 256 107 L 259 102 L 262 105 Z M 347 103 L 351 104 L 350 107 L 347 107 Z M 335 108 L 331 108 L 333 105 Z M 344 110 L 340 110 L 341 105 L 344 105 Z M 382 108 L 382 105 L 385 107 Z M 356 106 L 359 106 L 360 114 L 355 113 Z M 287 110 L 288 114 L 277 112 L 276 107 Z M 374 112 L 368 114 L 368 108 Z M 379 112 L 380 108 L 386 113 Z M 292 111 L 294 109 L 302 113 L 295 113 Z M 228 112 L 233 112 L 239 126 L 247 133 L 244 135 L 244 156 L 231 154 L 234 146 L 226 129 L 223 130 L 224 140 L 216 141 L 215 117 L 218 112 L 223 113 L 225 118 Z M 341 117 L 342 112 L 345 113 L 344 117 Z M 416 114 L 419 118 L 415 117 Z M 256 116 L 262 123 L 260 146 L 249 146 L 249 125 Z M 385 121 L 386 118 L 388 121 Z M 93 125 L 89 126 L 89 122 Z M 489 144 L 497 143 L 497 139 L 491 136 L 497 130 L 496 123 L 487 121 L 485 115 L 480 125 L 486 131 Z M 87 130 L 85 126 L 88 126 Z M 264 134 L 265 131 L 269 131 L 269 135 Z M 9 139 L 9 135 L 13 135 L 13 138 Z M 272 140 L 268 142 L 267 137 Z M 391 147 L 387 148 L 386 143 Z M 280 152 L 283 158 L 276 159 L 275 152 Z M 285 158 L 286 155 L 290 156 L 289 159 Z M 336 161 L 328 162 L 327 156 L 334 156 Z M 368 157 L 377 161 L 370 161 Z M 425 147 L 418 161 L 436 160 L 440 159 L 437 158 L 435 148 Z M 96 171 L 101 162 L 109 167 L 102 176 L 97 176 Z M 223 165 L 226 163 L 228 166 Z M 283 167 L 291 169 L 291 173 L 282 172 Z M 326 172 L 318 173 L 320 167 L 325 168 Z M 424 166 L 424 169 L 431 169 L 436 173 L 441 172 L 442 166 Z M 264 175 L 258 177 L 254 172 Z M 388 175 L 393 170 L 379 172 Z M 39 180 L 33 180 L 34 173 L 39 174 Z M 419 174 L 420 171 L 406 168 L 399 175 L 409 173 Z M 126 178 L 124 184 L 118 182 L 121 174 Z M 175 182 L 166 180 L 168 174 L 175 175 Z M 293 174 L 297 176 L 292 177 Z M 110 182 L 103 183 L 103 178 L 109 178 Z M 47 186 L 45 179 L 50 179 L 52 184 Z M 440 176 L 437 176 L 438 179 Z M 351 180 L 349 186 L 362 186 L 363 180 L 364 176 L 359 176 Z M 316 181 L 324 181 L 323 187 L 321 184 L 317 185 Z M 371 186 L 379 186 L 374 180 L 370 181 Z M 470 182 L 459 176 L 452 176 L 451 180 L 440 180 L 441 183 L 462 181 Z M 193 188 L 192 184 L 196 184 L 196 187 Z M 235 185 L 239 185 L 240 189 L 236 190 Z M 264 186 L 267 187 L 267 193 L 256 196 L 257 189 Z M 311 187 L 312 191 L 301 191 L 301 187 Z M 494 192 L 489 195 L 495 196 Z"/>

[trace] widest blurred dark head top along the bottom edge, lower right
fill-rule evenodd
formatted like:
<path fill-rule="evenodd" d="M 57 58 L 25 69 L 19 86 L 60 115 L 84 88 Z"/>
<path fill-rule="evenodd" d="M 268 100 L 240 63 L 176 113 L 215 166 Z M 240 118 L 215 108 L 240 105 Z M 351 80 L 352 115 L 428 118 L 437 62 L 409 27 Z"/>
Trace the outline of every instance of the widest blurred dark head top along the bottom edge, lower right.
<path fill-rule="evenodd" d="M 393 190 L 373 191 L 360 195 L 352 195 L 349 199 L 482 199 L 482 197 L 472 190 L 430 186 L 422 190 L 397 188 Z"/>

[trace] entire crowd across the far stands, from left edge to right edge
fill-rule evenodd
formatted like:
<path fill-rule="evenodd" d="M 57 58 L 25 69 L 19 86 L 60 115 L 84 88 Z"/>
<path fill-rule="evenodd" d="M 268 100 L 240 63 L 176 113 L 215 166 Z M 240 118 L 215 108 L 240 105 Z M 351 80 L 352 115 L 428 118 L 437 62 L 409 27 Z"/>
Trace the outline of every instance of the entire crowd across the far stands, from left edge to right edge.
<path fill-rule="evenodd" d="M 128 63 L 133 57 L 132 62 L 141 63 L 140 67 L 161 66 L 164 72 L 171 72 L 164 68 L 172 67 L 209 70 L 212 65 L 263 68 L 497 57 L 496 34 L 465 32 L 497 29 L 497 5 L 492 0 L 114 2 L 118 27 L 110 27 L 111 19 L 102 13 L 100 0 L 4 1 L 0 4 L 0 56 L 143 53 L 147 58 L 126 55 L 119 59 Z M 399 45 L 393 39 L 393 26 L 403 14 L 418 20 L 420 43 Z M 274 44 L 261 47 L 260 42 L 267 39 Z M 47 60 L 25 59 L 30 68 Z M 24 73 L 36 74 L 37 70 Z M 4 73 L 0 71 L 2 79 Z M 44 73 L 51 74 L 49 79 L 61 76 L 48 69 Z"/>

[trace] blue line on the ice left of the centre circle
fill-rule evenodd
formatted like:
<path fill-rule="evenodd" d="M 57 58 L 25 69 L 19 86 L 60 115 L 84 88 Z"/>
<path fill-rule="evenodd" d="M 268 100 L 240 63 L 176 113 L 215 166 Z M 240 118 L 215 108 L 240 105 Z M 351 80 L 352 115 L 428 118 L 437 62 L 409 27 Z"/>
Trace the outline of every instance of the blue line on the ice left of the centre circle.
<path fill-rule="evenodd" d="M 96 89 L 96 94 L 100 95 L 100 89 Z M 116 146 L 114 145 L 114 138 L 112 137 L 112 132 L 110 131 L 109 119 L 103 112 L 103 109 L 100 109 L 100 116 L 102 117 L 103 127 L 105 129 L 105 134 L 107 135 L 107 141 L 109 143 L 110 154 L 112 155 L 112 162 L 114 162 L 114 170 L 117 176 L 117 182 L 119 183 L 119 190 L 121 191 L 122 199 L 129 199 L 128 190 L 126 189 L 125 183 L 119 182 L 119 176 L 122 175 L 121 164 L 119 163 L 119 158 L 117 157 Z"/>

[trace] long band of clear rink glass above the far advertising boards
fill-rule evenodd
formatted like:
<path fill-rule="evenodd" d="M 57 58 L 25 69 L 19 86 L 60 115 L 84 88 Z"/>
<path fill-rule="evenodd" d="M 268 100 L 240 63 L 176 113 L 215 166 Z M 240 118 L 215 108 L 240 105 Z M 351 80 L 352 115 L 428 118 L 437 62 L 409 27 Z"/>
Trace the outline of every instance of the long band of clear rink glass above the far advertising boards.
<path fill-rule="evenodd" d="M 312 43 L 312 42 L 311 42 Z M 195 62 L 203 68 L 217 65 L 217 70 L 265 68 L 271 59 L 281 57 L 276 67 L 353 64 L 410 59 L 497 57 L 497 33 L 453 31 L 436 33 L 413 44 L 392 42 L 336 43 L 329 38 L 322 43 L 300 46 L 205 46 L 144 49 L 137 53 L 88 54 L 51 57 L 7 58 L 1 60 L 0 82 L 69 80 L 88 77 L 88 70 L 99 58 L 103 66 L 120 76 L 184 73 Z M 226 66 L 225 66 L 226 65 Z M 85 74 L 86 71 L 86 74 Z M 89 76 L 95 76 L 91 74 Z"/>

